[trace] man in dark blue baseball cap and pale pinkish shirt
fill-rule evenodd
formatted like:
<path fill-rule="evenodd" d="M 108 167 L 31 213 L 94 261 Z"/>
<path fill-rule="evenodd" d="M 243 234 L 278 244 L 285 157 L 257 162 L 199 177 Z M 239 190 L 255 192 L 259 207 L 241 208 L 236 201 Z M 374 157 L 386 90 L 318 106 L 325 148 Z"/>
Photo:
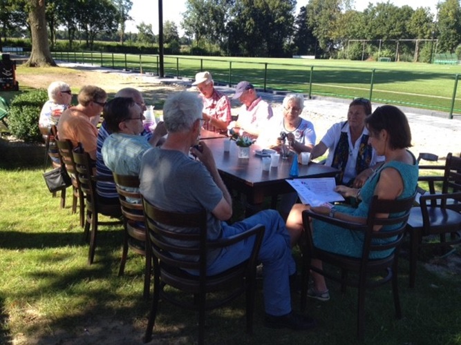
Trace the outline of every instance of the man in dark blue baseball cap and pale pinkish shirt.
<path fill-rule="evenodd" d="M 261 97 L 258 97 L 254 86 L 248 81 L 237 84 L 235 95 L 232 99 L 238 99 L 243 103 L 238 112 L 238 121 L 229 125 L 234 132 L 240 135 L 257 138 L 267 121 L 272 117 L 272 107 Z"/>

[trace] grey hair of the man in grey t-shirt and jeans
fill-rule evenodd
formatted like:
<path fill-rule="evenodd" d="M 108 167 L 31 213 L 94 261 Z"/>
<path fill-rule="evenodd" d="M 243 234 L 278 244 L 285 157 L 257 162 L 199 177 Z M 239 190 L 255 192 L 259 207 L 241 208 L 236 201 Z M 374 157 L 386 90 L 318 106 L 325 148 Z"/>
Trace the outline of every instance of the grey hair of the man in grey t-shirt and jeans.
<path fill-rule="evenodd" d="M 168 132 L 185 132 L 197 119 L 202 119 L 203 101 L 194 92 L 175 92 L 163 106 L 163 119 Z"/>

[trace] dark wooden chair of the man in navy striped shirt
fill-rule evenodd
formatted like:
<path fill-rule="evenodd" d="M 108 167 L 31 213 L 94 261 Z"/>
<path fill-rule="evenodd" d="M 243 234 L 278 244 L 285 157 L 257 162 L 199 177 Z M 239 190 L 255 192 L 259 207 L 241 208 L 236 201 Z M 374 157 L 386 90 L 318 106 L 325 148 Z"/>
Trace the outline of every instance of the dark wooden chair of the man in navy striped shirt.
<path fill-rule="evenodd" d="M 120 210 L 119 204 L 102 204 L 97 201 L 97 176 L 93 175 L 90 156 L 87 152 L 82 152 L 80 148 L 75 148 L 72 151 L 72 154 L 73 160 L 75 161 L 75 170 L 79 181 L 79 188 L 82 190 L 85 199 L 85 234 L 90 233 L 91 228 L 90 249 L 88 250 L 88 265 L 91 265 L 95 259 L 97 227 L 100 225 L 123 224 L 120 219 L 113 221 L 100 221 L 98 216 L 101 214 L 109 217 L 121 217 L 122 210 Z"/>

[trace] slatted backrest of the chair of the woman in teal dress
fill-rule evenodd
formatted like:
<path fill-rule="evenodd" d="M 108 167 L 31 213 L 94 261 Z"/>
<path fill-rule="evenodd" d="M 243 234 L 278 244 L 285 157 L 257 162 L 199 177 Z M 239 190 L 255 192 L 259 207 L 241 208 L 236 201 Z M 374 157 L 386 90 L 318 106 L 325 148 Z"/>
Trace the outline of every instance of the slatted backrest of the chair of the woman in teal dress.
<path fill-rule="evenodd" d="M 367 261 L 371 253 L 398 248 L 404 237 L 406 222 L 414 201 L 415 194 L 396 200 L 378 199 L 377 195 L 373 196 L 366 220 L 362 262 Z M 382 214 L 389 214 L 390 217 L 380 217 Z M 381 230 L 373 230 L 376 226 L 382 226 Z"/>

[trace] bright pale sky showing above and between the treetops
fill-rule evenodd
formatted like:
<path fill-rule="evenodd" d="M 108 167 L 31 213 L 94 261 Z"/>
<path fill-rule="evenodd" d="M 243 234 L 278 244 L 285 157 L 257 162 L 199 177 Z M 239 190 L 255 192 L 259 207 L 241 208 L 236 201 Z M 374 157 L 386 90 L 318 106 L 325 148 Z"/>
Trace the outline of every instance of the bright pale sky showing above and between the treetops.
<path fill-rule="evenodd" d="M 136 25 L 144 21 L 144 23 L 152 24 L 153 31 L 158 33 L 158 0 L 132 0 L 133 7 L 131 8 L 130 15 L 134 21 L 126 23 L 126 31 L 135 32 Z M 368 1 L 368 0 L 355 0 L 355 9 L 364 10 L 368 6 L 368 3 L 386 2 L 386 0 L 380 1 Z M 432 12 L 435 13 L 435 6 L 438 0 L 391 0 L 395 6 L 408 5 L 413 8 L 421 6 L 430 7 Z M 180 21 L 182 20 L 181 13 L 185 12 L 186 0 L 163 0 L 163 21 L 174 21 L 178 26 L 180 34 L 182 29 L 180 28 Z M 305 6 L 308 0 L 298 0 L 297 12 L 301 6 Z"/>

